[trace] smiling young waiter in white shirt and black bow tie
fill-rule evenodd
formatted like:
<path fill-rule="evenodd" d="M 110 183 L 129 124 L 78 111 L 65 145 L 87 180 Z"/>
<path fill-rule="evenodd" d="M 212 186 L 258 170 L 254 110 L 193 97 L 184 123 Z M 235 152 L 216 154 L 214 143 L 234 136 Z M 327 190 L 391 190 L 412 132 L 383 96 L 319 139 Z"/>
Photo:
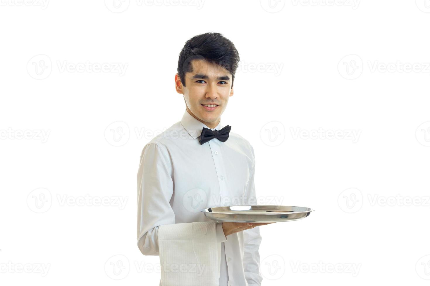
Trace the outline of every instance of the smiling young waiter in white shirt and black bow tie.
<path fill-rule="evenodd" d="M 207 222 L 200 210 L 255 198 L 254 150 L 221 123 L 239 60 L 220 33 L 194 36 L 179 54 L 175 88 L 186 110 L 144 146 L 138 170 L 137 235 L 144 255 L 159 255 L 159 226 Z M 265 224 L 216 223 L 220 286 L 261 285 L 258 226 Z"/>

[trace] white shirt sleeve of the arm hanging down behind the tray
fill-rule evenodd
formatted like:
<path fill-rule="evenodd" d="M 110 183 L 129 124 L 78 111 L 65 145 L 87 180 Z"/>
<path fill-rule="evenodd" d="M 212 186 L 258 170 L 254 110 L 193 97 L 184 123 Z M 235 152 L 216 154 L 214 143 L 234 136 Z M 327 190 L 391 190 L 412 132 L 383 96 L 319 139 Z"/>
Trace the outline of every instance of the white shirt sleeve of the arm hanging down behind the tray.
<path fill-rule="evenodd" d="M 249 181 L 245 189 L 245 198 L 249 200 L 250 197 L 255 198 L 255 157 L 254 149 L 252 150 L 252 168 L 249 176 Z M 258 248 L 261 244 L 260 227 L 256 226 L 252 229 L 246 229 L 243 231 L 244 240 L 244 251 L 243 251 L 243 270 L 245 272 L 245 278 L 249 286 L 259 286 L 263 277 L 260 273 L 260 254 Z"/>

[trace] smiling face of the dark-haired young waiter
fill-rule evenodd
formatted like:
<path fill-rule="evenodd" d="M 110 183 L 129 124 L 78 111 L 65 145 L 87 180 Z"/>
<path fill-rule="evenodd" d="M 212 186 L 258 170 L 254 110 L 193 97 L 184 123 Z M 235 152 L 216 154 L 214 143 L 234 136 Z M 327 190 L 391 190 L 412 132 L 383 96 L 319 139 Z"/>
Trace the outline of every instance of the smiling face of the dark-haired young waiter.
<path fill-rule="evenodd" d="M 192 72 L 185 74 L 183 86 L 175 75 L 176 91 L 184 95 L 187 111 L 210 128 L 218 125 L 221 114 L 233 96 L 232 75 L 226 69 L 206 60 L 191 61 Z M 206 107 L 205 104 L 215 104 Z"/>

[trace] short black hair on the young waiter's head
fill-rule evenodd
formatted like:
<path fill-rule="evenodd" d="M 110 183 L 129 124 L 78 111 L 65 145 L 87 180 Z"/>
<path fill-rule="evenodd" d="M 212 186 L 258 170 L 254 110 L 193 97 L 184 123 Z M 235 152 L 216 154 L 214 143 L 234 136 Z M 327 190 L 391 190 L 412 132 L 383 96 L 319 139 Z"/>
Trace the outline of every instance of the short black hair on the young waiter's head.
<path fill-rule="evenodd" d="M 202 59 L 227 69 L 232 75 L 231 87 L 233 87 L 234 74 L 239 66 L 239 53 L 233 43 L 221 35 L 221 33 L 208 32 L 189 39 L 179 53 L 178 76 L 185 86 L 185 73 L 192 72 L 191 61 Z"/>

